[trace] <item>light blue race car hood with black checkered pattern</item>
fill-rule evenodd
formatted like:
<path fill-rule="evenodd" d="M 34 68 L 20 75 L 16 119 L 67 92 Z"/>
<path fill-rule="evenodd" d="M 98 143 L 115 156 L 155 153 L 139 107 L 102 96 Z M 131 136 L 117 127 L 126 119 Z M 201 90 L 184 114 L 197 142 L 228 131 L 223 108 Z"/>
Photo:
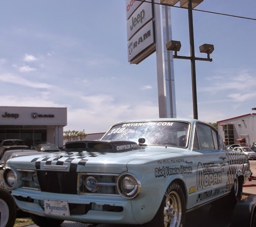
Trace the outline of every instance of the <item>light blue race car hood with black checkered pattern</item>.
<path fill-rule="evenodd" d="M 180 157 L 184 149 L 168 146 L 143 146 L 140 147 L 132 141 L 93 141 L 91 148 L 79 152 L 56 152 L 44 155 L 14 158 L 9 161 L 14 168 L 20 169 L 58 169 L 59 171 L 76 172 L 108 172 L 121 173 L 127 171 L 127 164 L 135 159 L 136 164 L 156 160 L 161 154 L 176 153 Z M 164 155 L 163 155 L 164 157 Z"/>

